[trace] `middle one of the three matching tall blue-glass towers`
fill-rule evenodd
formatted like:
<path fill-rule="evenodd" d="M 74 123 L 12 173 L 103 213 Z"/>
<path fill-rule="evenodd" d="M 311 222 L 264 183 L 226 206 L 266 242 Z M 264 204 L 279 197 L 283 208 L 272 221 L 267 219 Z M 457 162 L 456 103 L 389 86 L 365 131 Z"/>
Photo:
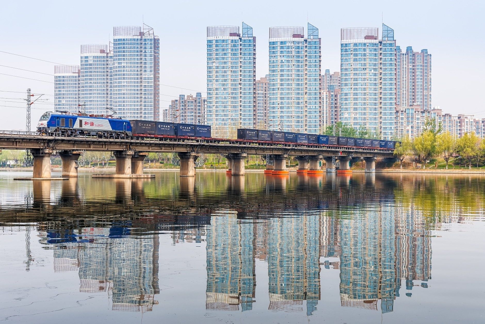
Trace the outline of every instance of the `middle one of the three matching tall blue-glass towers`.
<path fill-rule="evenodd" d="M 321 39 L 318 28 L 271 27 L 269 128 L 318 134 L 321 128 Z"/>

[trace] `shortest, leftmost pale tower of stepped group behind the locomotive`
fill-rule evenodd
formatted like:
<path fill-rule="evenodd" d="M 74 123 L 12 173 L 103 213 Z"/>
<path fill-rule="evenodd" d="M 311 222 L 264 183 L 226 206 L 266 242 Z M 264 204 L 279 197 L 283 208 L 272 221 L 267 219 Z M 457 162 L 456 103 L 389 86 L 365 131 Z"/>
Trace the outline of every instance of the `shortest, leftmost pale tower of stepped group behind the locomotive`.
<path fill-rule="evenodd" d="M 54 109 L 77 113 L 79 110 L 79 65 L 54 66 Z"/>

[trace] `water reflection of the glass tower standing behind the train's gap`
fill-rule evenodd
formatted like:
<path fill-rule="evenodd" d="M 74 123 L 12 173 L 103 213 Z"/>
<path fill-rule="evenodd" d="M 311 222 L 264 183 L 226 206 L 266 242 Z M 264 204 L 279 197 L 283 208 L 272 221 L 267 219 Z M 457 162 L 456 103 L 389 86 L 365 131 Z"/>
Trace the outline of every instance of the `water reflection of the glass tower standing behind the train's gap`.
<path fill-rule="evenodd" d="M 223 214 L 224 212 L 219 212 Z M 206 309 L 251 310 L 256 289 L 254 225 L 236 214 L 211 217 L 207 229 Z"/>

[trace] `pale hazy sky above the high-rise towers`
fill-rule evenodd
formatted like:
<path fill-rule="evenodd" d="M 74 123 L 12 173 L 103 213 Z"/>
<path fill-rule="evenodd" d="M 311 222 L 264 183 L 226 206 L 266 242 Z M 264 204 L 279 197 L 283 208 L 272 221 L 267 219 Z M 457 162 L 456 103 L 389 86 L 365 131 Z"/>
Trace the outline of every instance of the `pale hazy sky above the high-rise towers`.
<path fill-rule="evenodd" d="M 322 71 L 339 71 L 340 28 L 394 29 L 405 50 L 428 49 L 433 55 L 433 106 L 452 114 L 485 117 L 480 99 L 485 85 L 485 1 L 2 1 L 0 51 L 60 64 L 79 65 L 81 44 L 107 44 L 113 26 L 142 25 L 160 37 L 163 108 L 179 94 L 206 91 L 206 27 L 246 22 L 256 36 L 257 78 L 268 71 L 268 29 L 272 26 L 319 28 Z M 54 64 L 0 52 L 0 129 L 25 129 L 25 90 L 54 94 Z M 21 79 L 45 80 L 51 83 Z M 18 91 L 5 92 L 5 91 Z M 53 110 L 53 96 L 35 104 L 32 128 L 40 114 Z M 50 102 L 50 104 L 49 104 Z M 7 106 L 17 106 L 11 108 Z"/>

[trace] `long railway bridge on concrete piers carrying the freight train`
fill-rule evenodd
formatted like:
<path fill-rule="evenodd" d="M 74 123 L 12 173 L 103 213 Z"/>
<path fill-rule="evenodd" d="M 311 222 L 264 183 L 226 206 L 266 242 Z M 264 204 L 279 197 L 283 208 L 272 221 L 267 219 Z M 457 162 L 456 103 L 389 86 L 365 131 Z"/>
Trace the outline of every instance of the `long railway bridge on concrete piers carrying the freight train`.
<path fill-rule="evenodd" d="M 57 153 L 62 159 L 62 176 L 77 177 L 76 161 L 82 151 L 113 152 L 118 177 L 136 177 L 143 174 L 143 161 L 150 152 L 176 152 L 180 158 L 180 176 L 194 176 L 194 162 L 200 153 L 224 154 L 228 160 L 227 173 L 244 175 L 244 158 L 248 155 L 270 155 L 273 165 L 266 173 L 288 174 L 289 156 L 296 156 L 298 171 L 323 173 L 321 161 L 326 162 L 326 172 L 335 172 L 335 161 L 340 162 L 341 172 L 349 169 L 350 162 L 366 161 L 366 172 L 375 172 L 377 157 L 393 158 L 392 149 L 348 146 L 329 146 L 303 143 L 276 143 L 241 139 L 189 138 L 189 137 L 100 137 L 54 136 L 35 132 L 0 131 L 0 149 L 25 150 L 33 155 L 33 178 L 50 178 L 50 156 Z"/>

